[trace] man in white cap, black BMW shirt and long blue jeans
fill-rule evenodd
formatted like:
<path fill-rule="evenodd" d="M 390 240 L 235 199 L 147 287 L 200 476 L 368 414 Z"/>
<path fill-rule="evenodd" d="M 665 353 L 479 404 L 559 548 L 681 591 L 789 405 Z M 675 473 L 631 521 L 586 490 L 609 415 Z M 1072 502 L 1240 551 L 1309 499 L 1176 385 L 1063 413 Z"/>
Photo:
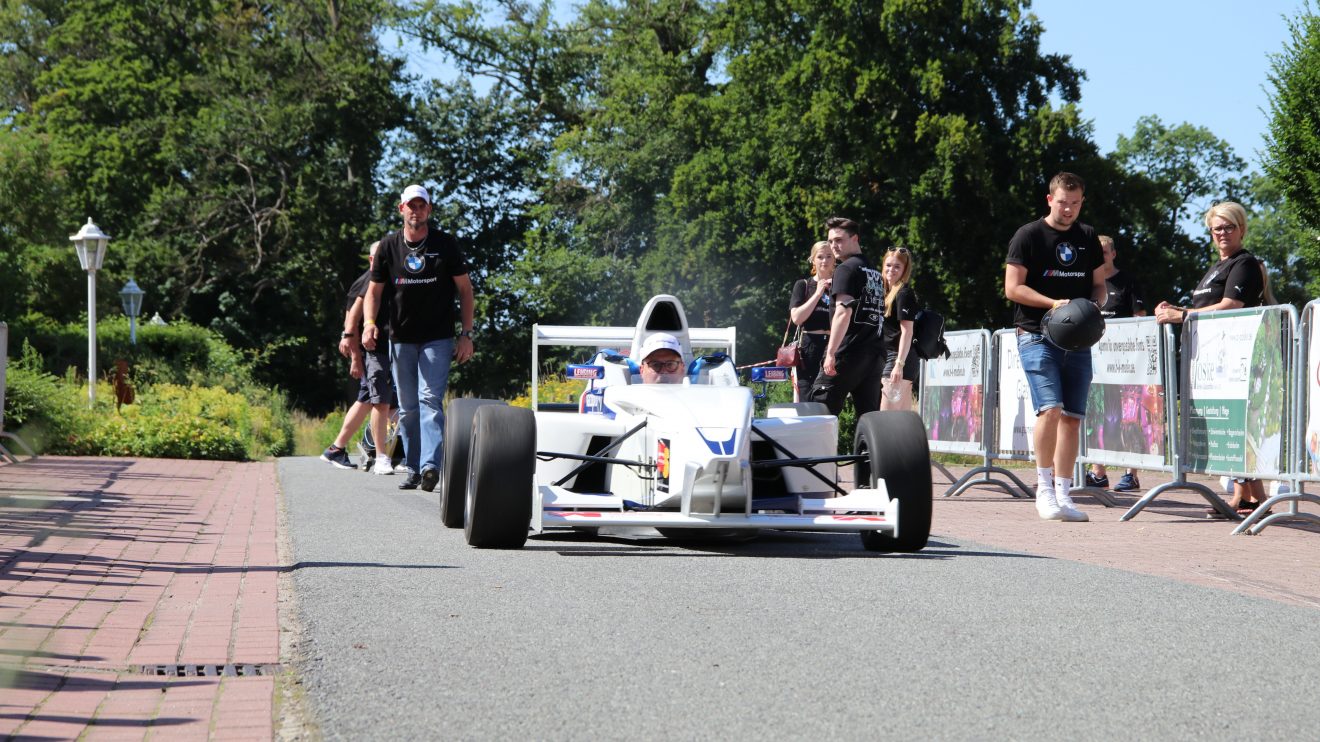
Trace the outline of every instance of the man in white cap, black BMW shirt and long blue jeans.
<path fill-rule="evenodd" d="M 399 392 L 399 430 L 408 457 L 408 479 L 400 490 L 421 485 L 428 492 L 444 466 L 445 387 L 449 363 L 473 356 L 473 283 L 467 261 L 453 236 L 430 228 L 430 194 L 420 185 L 399 198 L 404 227 L 380 240 L 371 267 L 366 316 L 375 317 L 389 284 L 389 358 Z M 454 339 L 454 298 L 462 331 Z M 375 347 L 378 327 L 367 320 L 362 345 Z"/>

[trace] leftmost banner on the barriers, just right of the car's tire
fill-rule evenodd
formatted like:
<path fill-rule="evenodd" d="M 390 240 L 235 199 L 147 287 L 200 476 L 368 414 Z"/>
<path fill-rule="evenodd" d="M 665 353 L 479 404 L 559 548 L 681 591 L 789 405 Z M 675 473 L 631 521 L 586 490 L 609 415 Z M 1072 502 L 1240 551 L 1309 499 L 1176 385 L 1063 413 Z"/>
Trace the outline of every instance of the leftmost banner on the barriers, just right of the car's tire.
<path fill-rule="evenodd" d="M 946 333 L 948 358 L 925 362 L 921 420 L 931 450 L 985 453 L 986 334 Z"/>

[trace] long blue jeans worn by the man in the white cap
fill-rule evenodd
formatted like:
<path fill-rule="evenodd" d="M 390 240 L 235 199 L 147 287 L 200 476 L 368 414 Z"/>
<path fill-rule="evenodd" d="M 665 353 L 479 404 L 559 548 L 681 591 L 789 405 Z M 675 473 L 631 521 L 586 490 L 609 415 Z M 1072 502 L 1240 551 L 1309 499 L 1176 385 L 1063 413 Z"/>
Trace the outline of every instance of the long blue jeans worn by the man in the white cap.
<path fill-rule="evenodd" d="M 389 343 L 399 392 L 399 432 L 408 466 L 440 470 L 445 463 L 445 388 L 453 338 L 426 343 Z"/>

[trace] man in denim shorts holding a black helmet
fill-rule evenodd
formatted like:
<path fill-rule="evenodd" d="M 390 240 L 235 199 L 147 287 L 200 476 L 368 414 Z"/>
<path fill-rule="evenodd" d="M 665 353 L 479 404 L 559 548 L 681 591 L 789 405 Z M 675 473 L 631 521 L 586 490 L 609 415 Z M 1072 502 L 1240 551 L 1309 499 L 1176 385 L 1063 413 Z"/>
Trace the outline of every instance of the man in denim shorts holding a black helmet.
<path fill-rule="evenodd" d="M 1065 343 L 1071 346 L 1067 350 L 1060 347 L 1045 337 L 1043 322 L 1047 312 L 1071 300 L 1098 305 L 1107 297 L 1101 269 L 1105 259 L 1096 230 L 1077 220 L 1085 189 L 1082 180 L 1072 173 L 1051 178 L 1045 195 L 1049 214 L 1012 235 L 1005 265 L 1003 293 L 1014 302 L 1018 355 L 1036 409 L 1036 512 L 1044 520 L 1088 520 L 1072 502 L 1069 490 L 1090 391 L 1090 347 L 1078 347 L 1080 343 Z M 1080 334 L 1093 333 L 1084 329 Z"/>

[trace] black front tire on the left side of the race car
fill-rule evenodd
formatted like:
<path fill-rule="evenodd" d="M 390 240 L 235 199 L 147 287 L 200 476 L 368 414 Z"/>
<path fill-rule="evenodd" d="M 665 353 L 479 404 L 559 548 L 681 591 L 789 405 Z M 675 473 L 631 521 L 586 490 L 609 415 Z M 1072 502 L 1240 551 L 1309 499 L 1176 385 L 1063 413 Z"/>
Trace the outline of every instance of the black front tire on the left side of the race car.
<path fill-rule="evenodd" d="M 479 549 L 520 549 L 532 522 L 536 415 L 486 405 L 473 419 L 463 533 Z"/>

